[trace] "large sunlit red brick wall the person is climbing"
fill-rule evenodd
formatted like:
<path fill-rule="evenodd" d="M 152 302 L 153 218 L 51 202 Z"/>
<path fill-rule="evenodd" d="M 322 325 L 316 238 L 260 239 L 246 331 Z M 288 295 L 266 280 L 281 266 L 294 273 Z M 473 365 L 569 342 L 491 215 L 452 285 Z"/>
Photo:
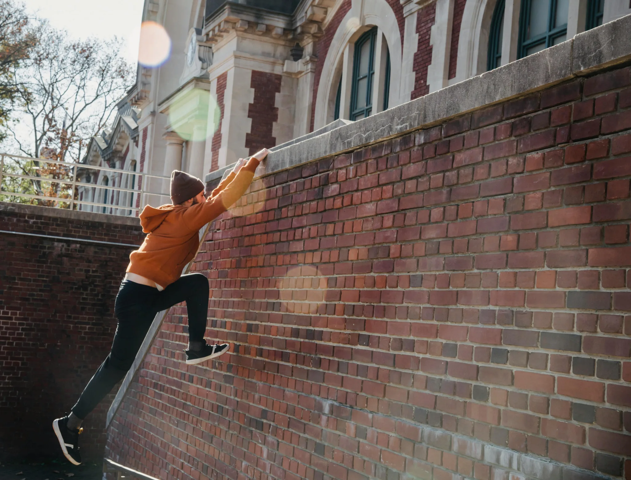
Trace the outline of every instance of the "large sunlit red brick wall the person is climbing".
<path fill-rule="evenodd" d="M 107 455 L 163 479 L 507 479 L 518 453 L 628 479 L 630 129 L 618 68 L 255 182 L 195 263 L 230 354 L 187 366 L 174 309 Z"/>

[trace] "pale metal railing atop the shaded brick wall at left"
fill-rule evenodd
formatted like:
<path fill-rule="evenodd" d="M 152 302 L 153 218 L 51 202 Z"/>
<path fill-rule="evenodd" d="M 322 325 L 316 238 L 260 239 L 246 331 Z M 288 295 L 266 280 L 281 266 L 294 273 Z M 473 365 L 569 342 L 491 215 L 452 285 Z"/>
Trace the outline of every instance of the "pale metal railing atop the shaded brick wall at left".
<path fill-rule="evenodd" d="M 83 181 L 85 177 L 89 177 L 90 180 L 94 177 L 98 181 L 99 172 L 112 172 L 114 174 L 112 181 L 109 181 L 109 178 L 108 184 Z M 135 170 L 112 169 L 0 153 L 0 200 L 4 201 L 30 198 L 39 200 L 38 204 L 46 201 L 53 203 L 54 207 L 68 210 L 96 212 L 98 208 L 98 213 L 129 216 L 134 215 L 135 212 L 135 215 L 138 215 L 137 212 L 149 203 L 148 199 L 151 196 L 169 196 L 168 193 L 148 191 L 146 188 L 148 179 L 160 179 L 160 182 L 170 180 L 169 177 Z M 123 187 L 123 183 L 126 186 Z M 132 188 L 129 188 L 129 185 Z M 83 196 L 91 197 L 91 200 L 84 200 L 82 195 L 78 195 L 79 189 L 83 190 Z M 104 193 L 103 190 L 105 190 Z M 112 200 L 110 200 L 111 192 L 118 192 Z M 129 195 L 121 195 L 121 193 L 131 195 L 131 201 Z M 121 203 L 122 197 L 124 197 L 124 203 Z M 103 201 L 98 201 L 101 198 Z M 83 208 L 82 205 L 88 208 Z"/>

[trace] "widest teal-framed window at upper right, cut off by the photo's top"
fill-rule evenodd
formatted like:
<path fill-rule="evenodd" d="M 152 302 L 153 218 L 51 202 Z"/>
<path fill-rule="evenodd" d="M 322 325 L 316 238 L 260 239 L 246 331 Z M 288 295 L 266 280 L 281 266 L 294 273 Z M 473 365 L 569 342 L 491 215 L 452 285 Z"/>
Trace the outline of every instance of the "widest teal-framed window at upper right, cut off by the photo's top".
<path fill-rule="evenodd" d="M 565 42 L 569 1 L 522 1 L 519 16 L 519 58 Z"/>

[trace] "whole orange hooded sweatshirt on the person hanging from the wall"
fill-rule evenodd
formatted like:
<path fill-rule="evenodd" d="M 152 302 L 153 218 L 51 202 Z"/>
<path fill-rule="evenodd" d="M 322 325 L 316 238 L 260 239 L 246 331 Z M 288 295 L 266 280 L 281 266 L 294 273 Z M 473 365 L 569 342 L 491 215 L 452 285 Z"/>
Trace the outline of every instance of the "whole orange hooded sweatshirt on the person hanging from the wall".
<path fill-rule="evenodd" d="M 138 250 L 129 254 L 127 272 L 142 275 L 161 287 L 182 275 L 199 246 L 199 229 L 232 206 L 252 183 L 259 160 L 252 157 L 237 174 L 228 177 L 203 203 L 191 207 L 147 205 L 140 214 L 144 237 Z"/>

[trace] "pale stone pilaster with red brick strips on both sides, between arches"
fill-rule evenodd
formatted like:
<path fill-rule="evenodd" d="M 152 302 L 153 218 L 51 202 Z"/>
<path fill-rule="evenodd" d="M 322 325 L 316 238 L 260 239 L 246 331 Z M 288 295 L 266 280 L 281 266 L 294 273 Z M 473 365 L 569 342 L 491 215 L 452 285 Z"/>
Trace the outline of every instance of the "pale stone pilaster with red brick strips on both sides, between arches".
<path fill-rule="evenodd" d="M 437 0 L 435 21 L 430 30 L 432 63 L 427 68 L 429 93 L 449 84 L 449 53 L 454 20 L 454 0 Z"/>

